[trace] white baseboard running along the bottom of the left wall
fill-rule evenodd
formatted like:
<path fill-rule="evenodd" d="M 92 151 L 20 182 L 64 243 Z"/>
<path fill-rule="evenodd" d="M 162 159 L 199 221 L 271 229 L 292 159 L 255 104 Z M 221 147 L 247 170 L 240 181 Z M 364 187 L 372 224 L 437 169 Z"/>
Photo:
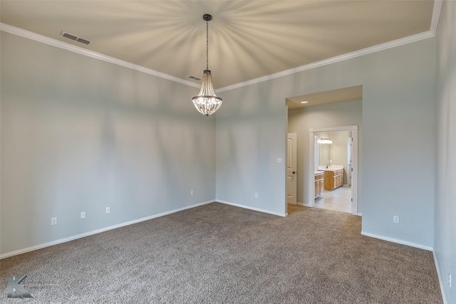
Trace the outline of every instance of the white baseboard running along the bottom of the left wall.
<path fill-rule="evenodd" d="M 42 244 L 39 244 L 39 245 L 36 245 L 36 246 L 31 246 L 31 247 L 28 247 L 28 248 L 24 248 L 24 249 L 19 249 L 19 250 L 16 250 L 16 251 L 11 251 L 11 252 L 7 252 L 7 253 L 3 253 L 3 254 L 0 254 L 0 259 L 2 258 L 9 258 L 10 256 L 17 256 L 18 254 L 21 254 L 21 253 L 26 253 L 26 252 L 29 252 L 29 251 L 34 251 L 34 250 L 37 250 L 37 249 L 41 249 L 41 248 L 45 248 L 45 247 L 48 247 L 48 246 L 53 246 L 53 245 L 57 245 L 59 243 L 65 243 L 65 242 L 68 242 L 68 241 L 73 241 L 73 240 L 76 240 L 76 239 L 81 239 L 85 236 L 91 236 L 93 234 L 99 234 L 101 232 L 104 232 L 104 231 L 108 231 L 108 230 L 111 230 L 111 229 L 117 229 L 117 228 L 120 228 L 120 227 L 123 227 L 123 226 L 128 226 L 128 225 L 132 225 L 132 224 L 136 224 L 136 223 L 139 223 L 141 221 L 148 221 L 150 219 L 156 219 L 157 217 L 160 217 L 160 216 L 165 216 L 165 215 L 168 215 L 168 214 L 173 214 L 175 212 L 179 212 L 179 211 L 183 211 L 185 209 L 191 209 L 191 208 L 195 208 L 197 206 L 202 206 L 202 205 L 205 205 L 205 204 L 210 204 L 210 203 L 214 203 L 215 201 L 203 201 L 202 203 L 199 203 L 199 204 L 194 204 L 194 205 L 191 205 L 191 206 L 185 206 L 185 207 L 182 207 L 182 208 L 179 208 L 179 209 L 174 209 L 174 210 L 170 210 L 170 211 L 165 211 L 165 212 L 162 212 L 160 214 L 154 214 L 152 216 L 146 216 L 146 217 L 143 217 L 141 219 L 134 219 L 133 221 L 125 221 L 123 223 L 120 223 L 120 224 L 116 224 L 116 225 L 113 225 L 113 226 L 108 226 L 108 227 L 104 227 L 104 228 L 101 228 L 101 229 L 97 229 L 97 230 L 93 230 L 93 231 L 88 231 L 86 233 L 83 233 L 83 234 L 78 234 L 76 236 L 69 236 L 68 238 L 64 238 L 64 239 L 58 239 L 56 241 L 51 241 L 51 242 L 48 242 L 48 243 L 42 243 Z"/>

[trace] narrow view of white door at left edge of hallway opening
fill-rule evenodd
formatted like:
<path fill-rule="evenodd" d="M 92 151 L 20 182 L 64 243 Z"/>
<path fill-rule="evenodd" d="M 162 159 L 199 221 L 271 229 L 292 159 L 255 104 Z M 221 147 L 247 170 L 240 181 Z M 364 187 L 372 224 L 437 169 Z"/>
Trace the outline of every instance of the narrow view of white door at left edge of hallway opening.
<path fill-rule="evenodd" d="M 286 202 L 296 204 L 296 133 L 286 138 Z"/>

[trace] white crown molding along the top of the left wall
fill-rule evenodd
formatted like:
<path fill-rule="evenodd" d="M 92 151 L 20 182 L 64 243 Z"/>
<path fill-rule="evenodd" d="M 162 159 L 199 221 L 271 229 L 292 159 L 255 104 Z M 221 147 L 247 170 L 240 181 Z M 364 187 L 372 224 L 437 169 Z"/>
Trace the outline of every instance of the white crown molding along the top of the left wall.
<path fill-rule="evenodd" d="M 41 43 L 46 43 L 46 44 L 48 44 L 50 46 L 56 46 L 57 48 L 63 48 L 66 51 L 71 51 L 71 52 L 74 52 L 74 53 L 81 54 L 83 56 L 88 56 L 88 57 L 91 57 L 91 58 L 99 59 L 100 61 L 106 61 L 108 63 L 113 63 L 115 65 L 120 65 L 120 66 L 123 66 L 125 68 L 131 68 L 133 70 L 138 70 L 138 71 L 140 71 L 142 73 L 154 75 L 154 76 L 157 76 L 157 77 L 160 77 L 160 78 L 164 78 L 164 79 L 167 79 L 167 80 L 174 81 L 176 83 L 182 83 L 183 85 L 190 85 L 191 87 L 195 87 L 195 88 L 199 88 L 200 87 L 199 84 L 192 83 L 192 82 L 190 82 L 188 80 L 177 78 L 177 77 L 172 76 L 172 75 L 167 75 L 165 73 L 161 73 L 161 72 L 158 72 L 157 70 L 152 70 L 150 68 L 145 68 L 142 65 L 137 65 L 137 64 L 134 64 L 134 63 L 129 63 L 128 61 L 120 60 L 118 58 L 106 56 L 106 55 L 104 55 L 102 53 L 97 53 L 97 52 L 94 52 L 94 51 L 90 51 L 90 50 L 88 50 L 86 48 L 81 48 L 79 46 L 73 46 L 70 43 L 59 41 L 59 40 L 56 40 L 54 38 L 49 38 L 49 37 L 40 35 L 38 33 L 33 33 L 31 31 L 26 31 L 26 30 L 24 30 L 22 28 L 17 28 L 16 26 L 10 26 L 9 24 L 6 24 L 6 23 L 0 23 L 0 31 L 4 31 L 6 33 L 12 33 L 14 35 L 21 36 L 21 37 L 24 37 L 24 38 L 28 38 L 28 39 L 31 39 L 31 40 L 34 40 L 34 41 L 38 41 L 38 42 L 41 42 Z"/>

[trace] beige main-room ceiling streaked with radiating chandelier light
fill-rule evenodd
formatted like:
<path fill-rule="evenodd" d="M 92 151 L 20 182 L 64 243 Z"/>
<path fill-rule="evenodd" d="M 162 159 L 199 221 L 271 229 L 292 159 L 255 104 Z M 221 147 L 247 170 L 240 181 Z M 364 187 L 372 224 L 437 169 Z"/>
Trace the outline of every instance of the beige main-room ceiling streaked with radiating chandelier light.
<path fill-rule="evenodd" d="M 430 31 L 434 1 L 1 0 L 1 23 L 189 80 L 209 69 L 224 88 Z M 62 38 L 61 31 L 86 38 Z M 199 83 L 198 81 L 190 80 Z"/>

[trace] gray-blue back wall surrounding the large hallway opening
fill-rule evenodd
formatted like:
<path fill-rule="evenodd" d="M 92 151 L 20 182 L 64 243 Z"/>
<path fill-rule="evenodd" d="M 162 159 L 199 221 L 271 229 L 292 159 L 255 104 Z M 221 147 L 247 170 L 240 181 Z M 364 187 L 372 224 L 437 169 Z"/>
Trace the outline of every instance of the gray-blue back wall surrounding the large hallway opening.
<path fill-rule="evenodd" d="M 363 85 L 363 233 L 430 247 L 434 38 L 223 92 L 216 197 L 284 214 L 285 99 L 353 85 Z"/>

